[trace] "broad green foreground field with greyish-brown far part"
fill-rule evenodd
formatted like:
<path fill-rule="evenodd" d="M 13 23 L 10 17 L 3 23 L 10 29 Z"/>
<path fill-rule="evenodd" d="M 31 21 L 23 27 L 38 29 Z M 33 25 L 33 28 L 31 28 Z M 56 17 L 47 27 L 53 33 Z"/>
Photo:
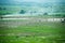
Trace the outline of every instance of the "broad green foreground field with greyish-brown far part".
<path fill-rule="evenodd" d="M 0 43 L 65 43 L 65 23 L 43 17 L 0 19 Z"/>

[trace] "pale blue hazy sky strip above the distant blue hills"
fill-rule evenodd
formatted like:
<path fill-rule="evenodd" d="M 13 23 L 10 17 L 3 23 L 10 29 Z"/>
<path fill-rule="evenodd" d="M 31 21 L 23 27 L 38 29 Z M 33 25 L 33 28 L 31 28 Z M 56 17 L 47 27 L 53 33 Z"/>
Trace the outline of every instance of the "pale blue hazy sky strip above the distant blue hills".
<path fill-rule="evenodd" d="M 65 0 L 0 0 L 0 2 L 16 1 L 16 2 L 65 2 Z"/>

